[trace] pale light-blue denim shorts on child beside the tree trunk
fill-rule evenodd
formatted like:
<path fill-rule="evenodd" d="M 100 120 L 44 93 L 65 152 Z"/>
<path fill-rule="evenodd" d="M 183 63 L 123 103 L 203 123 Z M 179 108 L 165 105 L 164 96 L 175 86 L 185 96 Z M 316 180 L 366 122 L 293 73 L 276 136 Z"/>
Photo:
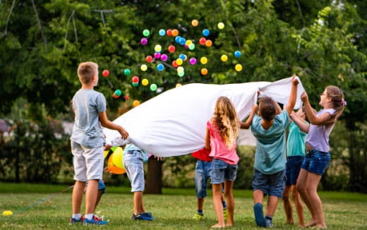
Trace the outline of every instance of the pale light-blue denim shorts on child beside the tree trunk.
<path fill-rule="evenodd" d="M 143 160 L 143 154 L 138 150 L 124 153 L 124 167 L 131 182 L 131 192 L 143 192 L 144 190 Z"/>

